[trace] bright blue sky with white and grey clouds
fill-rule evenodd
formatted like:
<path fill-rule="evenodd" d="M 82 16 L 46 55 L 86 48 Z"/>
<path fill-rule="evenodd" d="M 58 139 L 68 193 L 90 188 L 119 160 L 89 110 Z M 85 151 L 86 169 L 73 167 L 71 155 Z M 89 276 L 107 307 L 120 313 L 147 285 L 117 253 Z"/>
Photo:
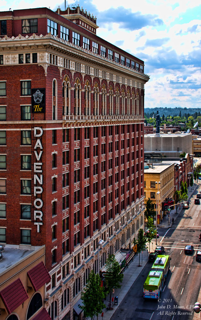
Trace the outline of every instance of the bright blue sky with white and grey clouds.
<path fill-rule="evenodd" d="M 201 4 L 199 0 L 72 1 L 97 16 L 97 35 L 142 59 L 145 108 L 201 106 Z M 1 11 L 64 2 L 2 0 Z"/>

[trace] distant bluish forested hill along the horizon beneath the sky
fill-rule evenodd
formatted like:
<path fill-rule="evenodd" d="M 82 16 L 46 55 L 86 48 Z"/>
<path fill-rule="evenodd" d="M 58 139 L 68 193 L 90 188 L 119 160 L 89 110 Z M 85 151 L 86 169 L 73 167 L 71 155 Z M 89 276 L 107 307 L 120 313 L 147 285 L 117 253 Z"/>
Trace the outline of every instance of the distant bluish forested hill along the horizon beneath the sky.
<path fill-rule="evenodd" d="M 200 108 L 144 108 L 144 115 L 147 118 L 151 118 L 154 114 L 154 117 L 156 118 L 158 114 L 160 117 L 162 116 L 180 116 L 181 118 L 185 117 L 188 119 L 189 116 L 193 116 L 194 119 L 197 118 L 197 116 L 201 115 Z"/>

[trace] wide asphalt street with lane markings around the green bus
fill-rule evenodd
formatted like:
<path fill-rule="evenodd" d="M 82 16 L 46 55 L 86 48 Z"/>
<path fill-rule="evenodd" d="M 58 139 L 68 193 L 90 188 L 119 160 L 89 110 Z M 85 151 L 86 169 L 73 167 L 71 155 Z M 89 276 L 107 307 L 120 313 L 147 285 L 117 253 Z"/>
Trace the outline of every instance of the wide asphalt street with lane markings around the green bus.
<path fill-rule="evenodd" d="M 161 300 L 143 299 L 143 283 L 152 266 L 148 262 L 113 314 L 112 320 L 193 319 L 193 304 L 197 301 L 201 287 L 201 262 L 195 260 L 196 252 L 201 250 L 198 239 L 201 233 L 201 205 L 195 205 L 194 198 L 191 198 L 189 209 L 182 210 L 178 215 L 172 228 L 158 229 L 158 241 L 171 257 L 170 272 Z M 192 255 L 184 254 L 187 244 L 194 246 Z"/>

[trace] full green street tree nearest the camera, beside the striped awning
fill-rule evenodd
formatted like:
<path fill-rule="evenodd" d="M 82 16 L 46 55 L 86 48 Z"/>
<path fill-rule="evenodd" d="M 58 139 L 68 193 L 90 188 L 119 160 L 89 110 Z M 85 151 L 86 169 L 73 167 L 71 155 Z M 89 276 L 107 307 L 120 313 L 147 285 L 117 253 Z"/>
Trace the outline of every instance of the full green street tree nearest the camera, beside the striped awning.
<path fill-rule="evenodd" d="M 82 301 L 84 304 L 83 310 L 85 316 L 89 316 L 94 319 L 102 312 L 104 305 L 105 293 L 103 287 L 101 287 L 101 278 L 98 274 L 95 274 L 93 270 L 89 274 L 86 289 L 82 293 Z"/>

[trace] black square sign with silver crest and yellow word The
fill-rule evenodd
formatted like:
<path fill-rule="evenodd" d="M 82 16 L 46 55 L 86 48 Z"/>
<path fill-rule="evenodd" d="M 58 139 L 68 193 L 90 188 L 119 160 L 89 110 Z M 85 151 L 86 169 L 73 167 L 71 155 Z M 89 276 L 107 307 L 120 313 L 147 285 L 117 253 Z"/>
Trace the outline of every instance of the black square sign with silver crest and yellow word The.
<path fill-rule="evenodd" d="M 45 88 L 31 89 L 31 107 L 33 113 L 45 112 Z"/>

